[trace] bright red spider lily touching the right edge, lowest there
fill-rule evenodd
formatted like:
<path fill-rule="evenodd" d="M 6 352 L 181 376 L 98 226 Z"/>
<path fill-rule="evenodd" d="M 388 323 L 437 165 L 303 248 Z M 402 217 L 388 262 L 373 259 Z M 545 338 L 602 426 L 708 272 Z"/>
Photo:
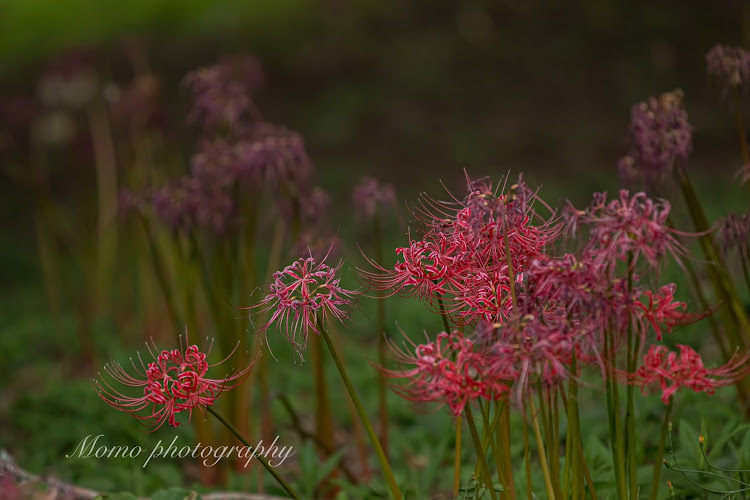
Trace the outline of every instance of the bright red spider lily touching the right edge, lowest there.
<path fill-rule="evenodd" d="M 649 385 L 658 384 L 662 390 L 661 400 L 669 400 L 682 387 L 695 392 L 712 395 L 716 388 L 736 384 L 750 373 L 750 352 L 735 354 L 727 364 L 719 368 L 706 368 L 700 355 L 685 345 L 677 346 L 677 352 L 668 352 L 662 345 L 652 345 L 643 358 L 643 366 L 634 374 L 620 374 L 629 383 L 646 390 Z"/>

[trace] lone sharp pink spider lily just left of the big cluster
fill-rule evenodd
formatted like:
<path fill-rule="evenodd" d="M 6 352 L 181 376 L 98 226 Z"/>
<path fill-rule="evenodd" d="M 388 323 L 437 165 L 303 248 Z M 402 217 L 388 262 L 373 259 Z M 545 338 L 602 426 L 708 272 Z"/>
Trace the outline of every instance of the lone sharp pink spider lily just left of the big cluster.
<path fill-rule="evenodd" d="M 325 323 L 329 317 L 339 321 L 348 319 L 348 308 L 359 293 L 341 287 L 336 271 L 343 261 L 334 268 L 325 264 L 326 257 L 320 263 L 316 263 L 313 257 L 300 258 L 276 271 L 265 298 L 254 306 L 241 308 L 272 311 L 271 318 L 260 331 L 267 333 L 272 325 L 278 325 L 285 331 L 300 359 L 310 332 L 320 334 L 317 322 Z"/>

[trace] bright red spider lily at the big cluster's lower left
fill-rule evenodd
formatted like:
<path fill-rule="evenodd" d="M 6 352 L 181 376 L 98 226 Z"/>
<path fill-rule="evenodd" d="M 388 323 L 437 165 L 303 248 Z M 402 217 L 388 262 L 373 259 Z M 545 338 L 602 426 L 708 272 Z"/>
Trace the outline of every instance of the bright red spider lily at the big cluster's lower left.
<path fill-rule="evenodd" d="M 490 370 L 486 354 L 475 350 L 474 342 L 459 331 L 440 333 L 435 342 L 412 343 L 414 354 L 388 342 L 396 360 L 413 368 L 380 370 L 386 377 L 406 379 L 394 390 L 409 401 L 447 404 L 458 416 L 472 401 L 500 399 L 510 389 L 503 380 L 512 379 L 512 374 Z"/>

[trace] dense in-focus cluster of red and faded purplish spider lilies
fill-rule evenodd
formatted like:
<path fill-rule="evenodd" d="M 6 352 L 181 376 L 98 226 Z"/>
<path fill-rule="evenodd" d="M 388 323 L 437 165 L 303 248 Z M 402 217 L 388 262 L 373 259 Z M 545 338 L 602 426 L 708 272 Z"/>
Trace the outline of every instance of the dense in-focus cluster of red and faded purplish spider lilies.
<path fill-rule="evenodd" d="M 375 270 L 362 271 L 380 291 L 438 302 L 469 332 L 441 333 L 413 346 L 413 354 L 392 343 L 396 360 L 407 366 L 383 373 L 404 380 L 395 388 L 401 396 L 447 404 L 454 415 L 479 398 L 513 393 L 523 404 L 532 388 L 556 387 L 580 367 L 611 376 L 629 331 L 646 349 L 652 336 L 660 341 L 664 332 L 708 314 L 686 312 L 674 284 L 654 291 L 640 283 L 636 271 L 658 275 L 666 256 L 678 262 L 686 256 L 678 240 L 685 233 L 667 225 L 666 201 L 625 190 L 608 201 L 598 193 L 586 209 L 568 207 L 562 218 L 551 210 L 542 217 L 534 202 L 546 206 L 522 181 L 498 193 L 487 180 L 469 180 L 462 201 L 422 204 L 416 213 L 424 235 L 396 250 L 392 269 L 370 262 Z M 556 256 L 564 233 L 586 239 L 575 253 Z M 663 349 L 652 346 L 647 365 L 657 347 Z M 736 381 L 750 369 L 740 365 L 706 373 Z"/>

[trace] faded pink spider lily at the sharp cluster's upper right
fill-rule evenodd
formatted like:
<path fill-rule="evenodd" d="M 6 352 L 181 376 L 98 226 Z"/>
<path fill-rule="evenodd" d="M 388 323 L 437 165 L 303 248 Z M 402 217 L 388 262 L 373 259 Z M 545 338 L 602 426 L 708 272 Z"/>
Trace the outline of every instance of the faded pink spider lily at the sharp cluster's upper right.
<path fill-rule="evenodd" d="M 654 202 L 643 192 L 631 196 L 625 189 L 619 194 L 619 198 L 607 203 L 606 193 L 596 193 L 585 211 L 571 207 L 566 212 L 573 233 L 579 224 L 590 228 L 584 254 L 611 272 L 618 261 L 632 259 L 635 264 L 640 257 L 655 268 L 667 253 L 679 262 L 687 250 L 675 234 L 686 233 L 667 226 L 669 202 Z"/>

